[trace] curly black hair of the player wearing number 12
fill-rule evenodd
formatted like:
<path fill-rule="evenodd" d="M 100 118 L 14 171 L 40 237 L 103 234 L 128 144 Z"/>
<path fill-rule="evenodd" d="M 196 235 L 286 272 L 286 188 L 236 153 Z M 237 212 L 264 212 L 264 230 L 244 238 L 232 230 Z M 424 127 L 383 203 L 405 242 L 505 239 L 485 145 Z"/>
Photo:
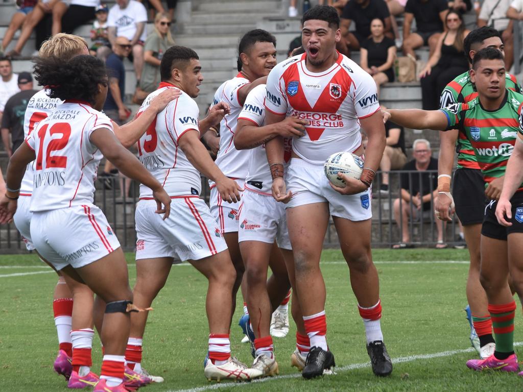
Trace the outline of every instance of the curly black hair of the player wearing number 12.
<path fill-rule="evenodd" d="M 37 57 L 35 62 L 35 79 L 49 89 L 51 98 L 94 103 L 98 84 L 107 83 L 105 64 L 94 56 L 75 56 L 66 62 L 57 57 Z"/>

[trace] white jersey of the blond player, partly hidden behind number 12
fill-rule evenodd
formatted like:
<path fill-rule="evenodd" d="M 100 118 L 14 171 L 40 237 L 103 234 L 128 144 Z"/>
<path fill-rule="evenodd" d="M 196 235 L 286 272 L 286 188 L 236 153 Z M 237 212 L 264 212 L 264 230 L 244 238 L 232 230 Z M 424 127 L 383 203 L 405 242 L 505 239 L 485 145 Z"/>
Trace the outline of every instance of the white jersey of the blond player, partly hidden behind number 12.
<path fill-rule="evenodd" d="M 49 114 L 56 109 L 56 106 L 62 103 L 63 101 L 59 98 L 49 98 L 46 90 L 40 90 L 33 95 L 27 103 L 24 117 L 24 137 L 29 136 L 38 123 L 49 116 Z M 31 195 L 34 175 L 35 161 L 27 165 L 26 173 L 24 178 L 22 178 L 20 185 L 20 194 L 22 196 Z"/>

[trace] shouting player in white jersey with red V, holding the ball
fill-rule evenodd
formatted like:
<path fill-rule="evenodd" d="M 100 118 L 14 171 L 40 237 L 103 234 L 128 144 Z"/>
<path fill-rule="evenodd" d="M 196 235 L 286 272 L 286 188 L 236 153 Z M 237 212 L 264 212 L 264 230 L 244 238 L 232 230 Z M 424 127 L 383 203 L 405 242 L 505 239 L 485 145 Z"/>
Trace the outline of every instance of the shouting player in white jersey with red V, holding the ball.
<path fill-rule="evenodd" d="M 341 33 L 334 7 L 311 8 L 303 15 L 302 25 L 305 54 L 272 69 L 265 98 L 266 124 L 282 121 L 286 116 L 309 121 L 305 135 L 293 137 L 288 169 L 283 138 L 277 136 L 265 144 L 272 195 L 277 201 L 288 203 L 296 290 L 310 339 L 311 350 L 302 375 L 320 376 L 335 365 L 326 341 L 326 293 L 320 270 L 331 215 L 365 326 L 372 371 L 387 376 L 392 372 L 392 363 L 383 344 L 379 278 L 370 249 L 370 188 L 385 148 L 376 84 L 355 62 L 336 51 Z M 362 156 L 361 128 L 369 140 L 361 177 L 356 180 L 339 174 L 346 186 L 336 187 L 325 177 L 323 164 L 339 152 Z"/>

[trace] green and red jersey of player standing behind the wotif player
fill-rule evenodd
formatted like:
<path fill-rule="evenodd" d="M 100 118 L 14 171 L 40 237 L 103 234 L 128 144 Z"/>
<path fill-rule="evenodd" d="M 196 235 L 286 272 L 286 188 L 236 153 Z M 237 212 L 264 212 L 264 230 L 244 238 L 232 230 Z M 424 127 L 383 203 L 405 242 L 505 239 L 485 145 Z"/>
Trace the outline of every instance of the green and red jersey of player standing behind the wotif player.
<path fill-rule="evenodd" d="M 505 74 L 506 88 L 521 93 L 521 87 L 518 85 L 514 75 Z M 477 97 L 477 91 L 470 81 L 469 72 L 464 72 L 450 82 L 442 91 L 439 106 L 441 109 L 446 108 L 452 103 L 467 103 Z M 458 168 L 465 167 L 469 169 L 479 169 L 474 150 L 467 139 L 467 136 L 460 132 L 456 142 L 456 151 L 458 153 Z"/>

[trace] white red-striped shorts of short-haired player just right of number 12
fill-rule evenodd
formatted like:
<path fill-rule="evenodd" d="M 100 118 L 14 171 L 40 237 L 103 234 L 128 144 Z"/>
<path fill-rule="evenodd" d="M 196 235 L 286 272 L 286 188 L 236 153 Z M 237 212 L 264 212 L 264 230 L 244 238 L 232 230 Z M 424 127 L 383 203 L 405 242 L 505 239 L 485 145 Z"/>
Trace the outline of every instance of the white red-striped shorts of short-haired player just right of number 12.
<path fill-rule="evenodd" d="M 227 249 L 209 207 L 197 196 L 173 198 L 165 221 L 155 211 L 154 200 L 140 200 L 136 207 L 137 260 L 200 260 Z"/>

